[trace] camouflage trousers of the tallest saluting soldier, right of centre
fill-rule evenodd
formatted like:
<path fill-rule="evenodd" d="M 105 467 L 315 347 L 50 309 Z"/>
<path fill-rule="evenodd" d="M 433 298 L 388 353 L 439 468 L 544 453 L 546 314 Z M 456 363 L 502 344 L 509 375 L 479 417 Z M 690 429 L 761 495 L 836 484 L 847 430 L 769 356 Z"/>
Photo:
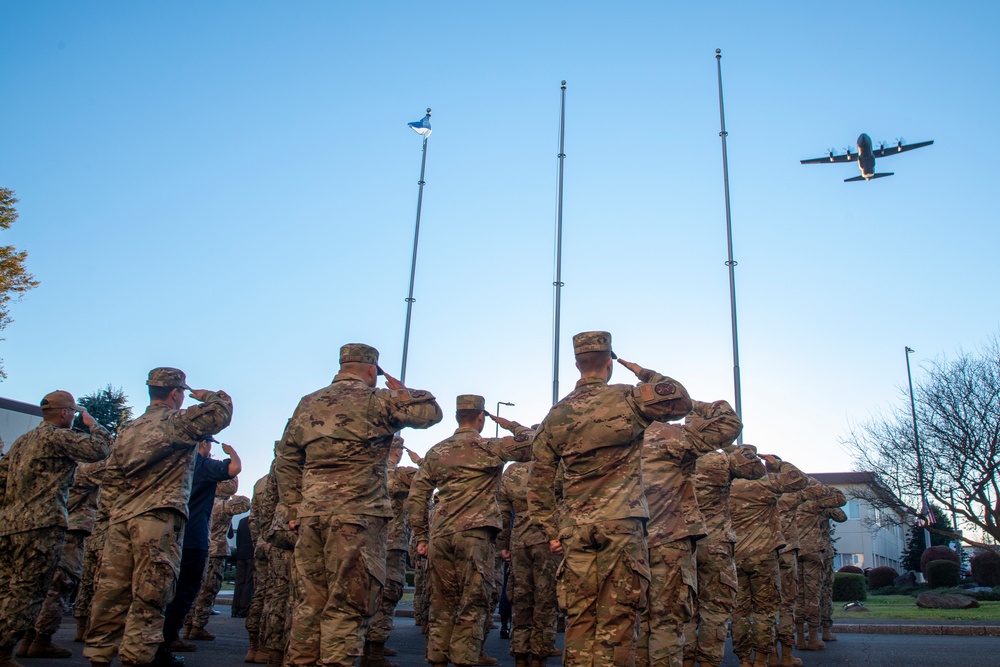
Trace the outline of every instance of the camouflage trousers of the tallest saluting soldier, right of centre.
<path fill-rule="evenodd" d="M 563 560 L 556 592 L 566 612 L 563 664 L 631 667 L 650 579 L 642 521 L 569 526 L 559 536 Z"/>

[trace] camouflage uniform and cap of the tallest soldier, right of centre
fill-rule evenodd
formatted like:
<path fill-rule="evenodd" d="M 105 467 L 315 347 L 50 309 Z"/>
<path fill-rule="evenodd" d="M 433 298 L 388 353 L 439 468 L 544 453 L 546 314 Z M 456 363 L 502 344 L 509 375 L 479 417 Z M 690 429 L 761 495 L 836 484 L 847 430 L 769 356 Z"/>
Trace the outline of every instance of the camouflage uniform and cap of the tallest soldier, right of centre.
<path fill-rule="evenodd" d="M 573 337 L 574 352 L 611 350 L 607 332 Z M 613 353 L 612 353 L 613 354 Z M 691 410 L 680 383 L 641 369 L 638 386 L 585 377 L 552 407 L 534 442 L 528 514 L 562 544 L 557 592 L 566 611 L 565 665 L 631 665 L 650 571 L 641 475 L 642 436 L 653 421 Z M 553 489 L 562 464 L 560 507 Z"/>

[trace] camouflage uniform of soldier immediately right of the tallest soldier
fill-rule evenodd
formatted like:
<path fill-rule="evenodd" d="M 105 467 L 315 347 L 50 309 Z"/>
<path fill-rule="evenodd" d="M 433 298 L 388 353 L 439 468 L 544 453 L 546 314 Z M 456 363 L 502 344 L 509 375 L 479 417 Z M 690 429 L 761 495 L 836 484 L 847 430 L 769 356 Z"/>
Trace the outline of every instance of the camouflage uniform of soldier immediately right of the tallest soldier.
<path fill-rule="evenodd" d="M 694 544 L 708 534 L 698 508 L 695 465 L 743 428 L 726 401 L 693 405 L 685 424 L 655 422 L 643 440 L 651 579 L 639 630 L 639 665 L 681 667 L 684 661 L 684 625 L 694 616 L 698 594 Z"/>

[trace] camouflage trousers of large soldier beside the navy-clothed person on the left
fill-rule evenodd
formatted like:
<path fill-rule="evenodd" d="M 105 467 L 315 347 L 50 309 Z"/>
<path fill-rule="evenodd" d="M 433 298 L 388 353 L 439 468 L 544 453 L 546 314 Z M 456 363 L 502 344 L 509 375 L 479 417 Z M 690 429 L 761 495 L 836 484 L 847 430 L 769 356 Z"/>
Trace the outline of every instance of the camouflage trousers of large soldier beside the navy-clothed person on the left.
<path fill-rule="evenodd" d="M 153 660 L 163 641 L 163 610 L 177 586 L 184 523 L 180 512 L 154 510 L 108 527 L 85 658 L 111 662 L 117 648 L 122 662 Z"/>

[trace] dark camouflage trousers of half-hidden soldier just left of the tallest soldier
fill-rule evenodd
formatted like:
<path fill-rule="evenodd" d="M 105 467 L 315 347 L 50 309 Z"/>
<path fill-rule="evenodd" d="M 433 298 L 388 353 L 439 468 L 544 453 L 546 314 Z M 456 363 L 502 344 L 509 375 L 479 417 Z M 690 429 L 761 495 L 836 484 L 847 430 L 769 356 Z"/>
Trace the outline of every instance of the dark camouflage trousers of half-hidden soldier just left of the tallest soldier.
<path fill-rule="evenodd" d="M 556 644 L 556 570 L 549 543 L 514 547 L 507 594 L 511 604 L 510 654 L 548 656 Z"/>

